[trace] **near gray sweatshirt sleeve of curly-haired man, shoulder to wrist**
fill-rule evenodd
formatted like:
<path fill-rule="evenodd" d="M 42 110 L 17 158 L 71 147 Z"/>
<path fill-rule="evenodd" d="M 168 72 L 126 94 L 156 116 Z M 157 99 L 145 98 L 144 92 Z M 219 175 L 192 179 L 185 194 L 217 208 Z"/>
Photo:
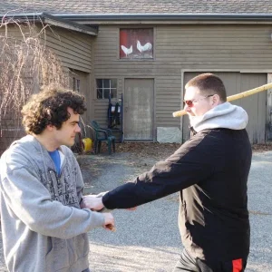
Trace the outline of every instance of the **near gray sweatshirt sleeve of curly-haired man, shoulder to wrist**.
<path fill-rule="evenodd" d="M 71 238 L 92 228 L 103 227 L 102 214 L 78 209 L 78 203 L 74 205 L 76 208 L 52 200 L 41 182 L 26 170 L 19 171 L 20 176 L 14 171 L 2 179 L 1 190 L 6 205 L 28 228 L 46 236 Z M 74 196 L 76 201 L 76 194 Z"/>

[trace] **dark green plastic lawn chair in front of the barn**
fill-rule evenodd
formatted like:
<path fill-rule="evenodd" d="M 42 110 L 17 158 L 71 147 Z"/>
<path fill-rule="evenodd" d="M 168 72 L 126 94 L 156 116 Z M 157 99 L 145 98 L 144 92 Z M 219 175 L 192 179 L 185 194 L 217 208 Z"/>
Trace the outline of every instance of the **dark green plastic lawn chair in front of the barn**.
<path fill-rule="evenodd" d="M 94 153 L 100 152 L 102 141 L 107 142 L 110 155 L 112 151 L 115 152 L 115 136 L 112 135 L 112 131 L 101 128 L 98 122 L 94 120 L 91 121 L 91 127 L 94 131 Z"/>

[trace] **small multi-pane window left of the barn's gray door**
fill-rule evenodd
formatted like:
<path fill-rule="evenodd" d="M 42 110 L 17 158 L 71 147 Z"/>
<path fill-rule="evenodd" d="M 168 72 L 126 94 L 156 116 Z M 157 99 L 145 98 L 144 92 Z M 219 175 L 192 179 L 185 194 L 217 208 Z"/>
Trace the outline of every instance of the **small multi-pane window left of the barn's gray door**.
<path fill-rule="evenodd" d="M 109 99 L 117 97 L 116 79 L 97 79 L 96 80 L 97 99 Z M 111 96 L 110 96 L 111 95 Z"/>

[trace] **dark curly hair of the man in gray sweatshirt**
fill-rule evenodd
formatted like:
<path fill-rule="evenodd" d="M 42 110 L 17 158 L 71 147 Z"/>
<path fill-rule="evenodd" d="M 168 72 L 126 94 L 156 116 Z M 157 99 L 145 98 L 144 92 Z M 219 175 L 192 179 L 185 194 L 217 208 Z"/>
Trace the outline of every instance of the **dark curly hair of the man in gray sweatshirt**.
<path fill-rule="evenodd" d="M 50 124 L 61 129 L 63 121 L 70 118 L 68 107 L 78 114 L 87 110 L 82 94 L 56 85 L 45 86 L 43 91 L 33 94 L 23 107 L 24 130 L 28 134 L 41 134 Z"/>

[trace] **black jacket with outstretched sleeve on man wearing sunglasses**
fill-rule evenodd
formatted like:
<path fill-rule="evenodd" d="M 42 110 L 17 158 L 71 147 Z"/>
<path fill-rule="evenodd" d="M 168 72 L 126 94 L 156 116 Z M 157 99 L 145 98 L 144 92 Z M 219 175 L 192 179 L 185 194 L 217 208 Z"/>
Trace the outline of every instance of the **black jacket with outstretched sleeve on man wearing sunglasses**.
<path fill-rule="evenodd" d="M 102 201 L 108 209 L 125 209 L 180 191 L 180 235 L 193 257 L 208 262 L 248 257 L 251 153 L 246 130 L 199 131 Z"/>

